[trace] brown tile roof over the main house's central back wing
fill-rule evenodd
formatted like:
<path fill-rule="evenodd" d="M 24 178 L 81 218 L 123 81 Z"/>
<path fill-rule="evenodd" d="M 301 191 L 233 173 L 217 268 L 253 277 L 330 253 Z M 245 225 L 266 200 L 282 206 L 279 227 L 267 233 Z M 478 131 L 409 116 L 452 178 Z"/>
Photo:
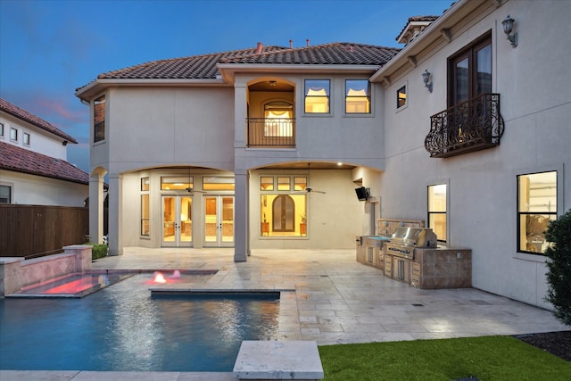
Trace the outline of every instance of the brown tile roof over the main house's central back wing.
<path fill-rule="evenodd" d="M 261 53 L 249 48 L 146 62 L 100 74 L 97 79 L 216 79 L 218 63 L 384 65 L 399 51 L 399 48 L 352 43 L 300 48 L 263 46 Z"/>

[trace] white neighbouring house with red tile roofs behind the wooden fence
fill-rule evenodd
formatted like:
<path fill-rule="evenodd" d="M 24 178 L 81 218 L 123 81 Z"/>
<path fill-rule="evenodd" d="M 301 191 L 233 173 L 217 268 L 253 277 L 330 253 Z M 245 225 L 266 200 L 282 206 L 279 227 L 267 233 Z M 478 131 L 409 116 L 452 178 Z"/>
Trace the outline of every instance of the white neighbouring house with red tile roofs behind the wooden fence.
<path fill-rule="evenodd" d="M 84 206 L 89 175 L 67 162 L 78 142 L 0 98 L 0 203 Z"/>

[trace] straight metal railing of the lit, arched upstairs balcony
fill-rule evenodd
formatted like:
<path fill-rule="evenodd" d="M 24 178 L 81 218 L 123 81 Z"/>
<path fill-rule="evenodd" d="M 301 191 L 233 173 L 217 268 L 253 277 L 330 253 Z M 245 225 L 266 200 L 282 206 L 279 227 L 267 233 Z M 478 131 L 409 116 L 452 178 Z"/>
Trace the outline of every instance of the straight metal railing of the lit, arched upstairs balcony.
<path fill-rule="evenodd" d="M 295 147 L 294 118 L 246 118 L 247 146 Z"/>

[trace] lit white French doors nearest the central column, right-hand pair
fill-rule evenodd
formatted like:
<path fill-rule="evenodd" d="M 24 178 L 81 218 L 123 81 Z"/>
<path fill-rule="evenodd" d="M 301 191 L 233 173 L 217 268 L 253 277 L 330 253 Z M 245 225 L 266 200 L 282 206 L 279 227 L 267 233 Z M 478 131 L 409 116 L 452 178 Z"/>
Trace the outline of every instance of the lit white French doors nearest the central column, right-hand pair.
<path fill-rule="evenodd" d="M 204 246 L 234 246 L 234 196 L 206 195 L 204 203 Z"/>

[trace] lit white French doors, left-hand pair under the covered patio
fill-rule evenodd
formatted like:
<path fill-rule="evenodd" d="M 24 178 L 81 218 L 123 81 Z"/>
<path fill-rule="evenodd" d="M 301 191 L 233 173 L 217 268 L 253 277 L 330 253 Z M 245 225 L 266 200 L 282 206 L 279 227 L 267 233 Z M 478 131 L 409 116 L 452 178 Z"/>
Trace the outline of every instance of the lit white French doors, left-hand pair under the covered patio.
<path fill-rule="evenodd" d="M 192 246 L 193 198 L 189 195 L 162 196 L 162 245 Z"/>

